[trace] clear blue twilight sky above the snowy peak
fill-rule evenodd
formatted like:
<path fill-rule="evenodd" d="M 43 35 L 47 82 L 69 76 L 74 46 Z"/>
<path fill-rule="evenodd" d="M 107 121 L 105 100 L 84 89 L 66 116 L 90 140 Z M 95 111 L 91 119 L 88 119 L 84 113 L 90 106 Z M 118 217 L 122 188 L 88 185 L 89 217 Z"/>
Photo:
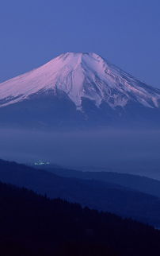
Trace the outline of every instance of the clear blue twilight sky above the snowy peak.
<path fill-rule="evenodd" d="M 160 87 L 160 1 L 0 0 L 0 82 L 62 52 L 97 52 Z"/>

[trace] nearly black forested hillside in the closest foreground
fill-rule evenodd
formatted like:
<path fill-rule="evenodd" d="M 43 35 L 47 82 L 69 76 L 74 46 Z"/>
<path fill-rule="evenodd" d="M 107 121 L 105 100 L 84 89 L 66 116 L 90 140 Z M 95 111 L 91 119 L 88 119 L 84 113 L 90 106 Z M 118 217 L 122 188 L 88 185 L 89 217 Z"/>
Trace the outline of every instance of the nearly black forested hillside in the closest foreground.
<path fill-rule="evenodd" d="M 160 231 L 0 183 L 1 256 L 160 254 Z"/>

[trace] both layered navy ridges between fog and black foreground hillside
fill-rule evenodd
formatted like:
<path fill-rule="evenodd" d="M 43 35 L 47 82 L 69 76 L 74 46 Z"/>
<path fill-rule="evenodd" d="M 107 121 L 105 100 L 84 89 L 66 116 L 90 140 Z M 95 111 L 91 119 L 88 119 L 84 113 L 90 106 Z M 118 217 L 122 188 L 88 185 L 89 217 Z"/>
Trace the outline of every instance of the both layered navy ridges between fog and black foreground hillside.
<path fill-rule="evenodd" d="M 2 182 L 29 188 L 50 198 L 59 197 L 160 227 L 159 190 L 155 194 L 160 181 L 118 173 L 99 173 L 99 176 L 98 173 L 82 173 L 79 178 L 75 178 L 73 172 L 72 176 L 64 177 L 63 172 L 64 169 L 55 169 L 54 174 L 14 162 L 0 161 Z"/>

